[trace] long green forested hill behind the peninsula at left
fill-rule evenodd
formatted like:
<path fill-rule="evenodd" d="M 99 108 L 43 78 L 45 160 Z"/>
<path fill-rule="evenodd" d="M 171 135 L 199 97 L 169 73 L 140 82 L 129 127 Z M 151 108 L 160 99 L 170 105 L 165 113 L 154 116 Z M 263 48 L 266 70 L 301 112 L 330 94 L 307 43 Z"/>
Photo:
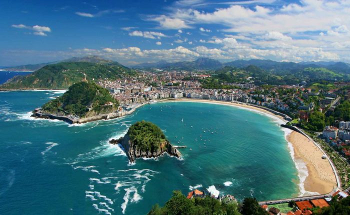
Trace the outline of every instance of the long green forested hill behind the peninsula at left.
<path fill-rule="evenodd" d="M 86 74 L 87 80 L 103 78 L 115 79 L 135 75 L 136 72 L 118 62 L 59 62 L 44 67 L 25 76 L 15 76 L 0 89 L 63 89 L 81 81 Z"/>

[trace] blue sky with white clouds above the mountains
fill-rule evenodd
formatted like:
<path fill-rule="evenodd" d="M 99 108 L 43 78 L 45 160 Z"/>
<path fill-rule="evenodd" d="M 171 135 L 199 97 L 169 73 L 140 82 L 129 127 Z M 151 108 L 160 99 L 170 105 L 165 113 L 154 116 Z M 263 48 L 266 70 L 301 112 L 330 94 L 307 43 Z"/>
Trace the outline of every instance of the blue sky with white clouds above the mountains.
<path fill-rule="evenodd" d="M 0 65 L 350 62 L 350 0 L 1 0 Z"/>

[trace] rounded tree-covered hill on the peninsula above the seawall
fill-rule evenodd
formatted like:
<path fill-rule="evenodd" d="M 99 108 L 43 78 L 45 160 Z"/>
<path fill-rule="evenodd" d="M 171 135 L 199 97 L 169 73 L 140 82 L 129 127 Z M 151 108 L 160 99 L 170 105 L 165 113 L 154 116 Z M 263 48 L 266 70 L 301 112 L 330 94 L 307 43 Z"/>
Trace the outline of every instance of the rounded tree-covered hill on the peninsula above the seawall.
<path fill-rule="evenodd" d="M 113 105 L 105 105 L 108 102 Z M 118 107 L 119 103 L 109 91 L 93 81 L 81 81 L 71 85 L 62 96 L 53 99 L 41 109 L 45 113 L 55 115 L 75 114 L 79 117 L 110 113 Z M 90 107 L 90 110 L 87 108 Z"/>

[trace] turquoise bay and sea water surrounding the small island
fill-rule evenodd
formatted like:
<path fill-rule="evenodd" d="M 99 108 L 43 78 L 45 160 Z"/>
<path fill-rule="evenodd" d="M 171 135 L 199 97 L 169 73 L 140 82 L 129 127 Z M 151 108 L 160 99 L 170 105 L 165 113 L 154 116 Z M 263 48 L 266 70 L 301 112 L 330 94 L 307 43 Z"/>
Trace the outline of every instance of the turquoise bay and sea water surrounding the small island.
<path fill-rule="evenodd" d="M 0 214 L 145 214 L 172 190 L 187 193 L 191 186 L 215 185 L 238 199 L 298 193 L 284 133 L 263 114 L 166 102 L 78 126 L 29 117 L 60 93 L 0 92 Z M 118 146 L 108 144 L 141 119 L 159 125 L 173 144 L 187 145 L 179 149 L 182 159 L 163 155 L 130 165 Z"/>

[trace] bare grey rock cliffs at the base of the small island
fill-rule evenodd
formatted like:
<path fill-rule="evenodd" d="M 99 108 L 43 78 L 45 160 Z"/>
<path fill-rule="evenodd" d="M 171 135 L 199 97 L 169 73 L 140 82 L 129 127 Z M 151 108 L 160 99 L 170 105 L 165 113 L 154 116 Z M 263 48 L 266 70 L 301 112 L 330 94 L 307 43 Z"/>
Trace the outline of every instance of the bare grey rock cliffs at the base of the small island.
<path fill-rule="evenodd" d="M 138 157 L 158 157 L 162 153 L 167 152 L 169 155 L 180 157 L 181 153 L 174 148 L 168 141 L 164 141 L 159 149 L 150 151 L 146 150 L 143 151 L 140 148 L 137 147 L 136 144 L 131 142 L 130 137 L 128 134 L 125 134 L 124 137 L 120 137 L 119 139 L 111 139 L 109 141 L 111 144 L 120 144 L 129 158 L 130 162 L 134 162 L 136 158 Z"/>

